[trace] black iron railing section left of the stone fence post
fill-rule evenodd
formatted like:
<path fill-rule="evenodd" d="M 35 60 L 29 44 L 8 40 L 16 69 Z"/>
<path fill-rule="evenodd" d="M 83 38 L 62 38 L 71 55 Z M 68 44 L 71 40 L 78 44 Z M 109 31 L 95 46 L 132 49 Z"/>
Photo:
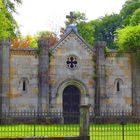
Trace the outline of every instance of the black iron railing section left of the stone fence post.
<path fill-rule="evenodd" d="M 79 113 L 73 112 L 4 112 L 0 120 L 0 138 L 75 138 L 80 131 Z"/>

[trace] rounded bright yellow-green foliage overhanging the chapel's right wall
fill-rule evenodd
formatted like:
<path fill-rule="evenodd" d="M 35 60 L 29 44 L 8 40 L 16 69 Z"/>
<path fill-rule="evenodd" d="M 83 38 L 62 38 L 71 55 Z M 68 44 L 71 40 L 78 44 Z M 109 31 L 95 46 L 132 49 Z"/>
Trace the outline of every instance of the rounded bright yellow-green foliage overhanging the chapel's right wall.
<path fill-rule="evenodd" d="M 117 30 L 116 42 L 121 51 L 136 52 L 140 50 L 140 25 L 127 26 Z"/>

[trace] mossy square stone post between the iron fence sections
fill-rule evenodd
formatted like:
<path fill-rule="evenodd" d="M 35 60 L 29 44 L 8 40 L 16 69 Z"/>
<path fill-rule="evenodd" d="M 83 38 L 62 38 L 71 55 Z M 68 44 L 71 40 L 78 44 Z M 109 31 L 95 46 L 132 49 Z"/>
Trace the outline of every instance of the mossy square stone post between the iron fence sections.
<path fill-rule="evenodd" d="M 80 139 L 81 140 L 90 140 L 89 107 L 90 107 L 90 105 L 81 105 L 80 106 Z"/>

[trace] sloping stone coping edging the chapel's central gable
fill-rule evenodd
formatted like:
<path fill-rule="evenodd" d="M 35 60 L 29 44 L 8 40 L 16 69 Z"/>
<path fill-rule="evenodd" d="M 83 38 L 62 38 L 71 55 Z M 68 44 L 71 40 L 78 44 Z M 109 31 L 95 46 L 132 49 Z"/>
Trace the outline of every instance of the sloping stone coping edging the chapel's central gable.
<path fill-rule="evenodd" d="M 86 46 L 86 49 L 88 50 L 88 52 L 92 53 L 93 54 L 93 50 L 91 49 L 90 45 L 78 34 L 76 33 L 73 29 L 69 32 L 69 33 L 66 33 L 60 40 L 59 42 L 53 46 L 52 48 L 50 48 L 50 52 L 54 52 L 56 50 L 56 48 L 59 46 L 59 44 L 61 44 L 66 38 L 67 36 L 69 36 L 71 33 L 74 33 L 80 40 L 83 44 L 85 44 Z"/>

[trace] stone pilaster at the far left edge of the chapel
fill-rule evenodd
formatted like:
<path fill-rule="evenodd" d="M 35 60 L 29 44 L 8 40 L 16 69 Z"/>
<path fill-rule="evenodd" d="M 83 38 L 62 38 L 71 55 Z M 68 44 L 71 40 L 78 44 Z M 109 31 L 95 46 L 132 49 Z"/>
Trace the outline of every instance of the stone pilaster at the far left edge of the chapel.
<path fill-rule="evenodd" d="M 2 111 L 9 110 L 10 41 L 0 43 L 0 94 Z"/>

